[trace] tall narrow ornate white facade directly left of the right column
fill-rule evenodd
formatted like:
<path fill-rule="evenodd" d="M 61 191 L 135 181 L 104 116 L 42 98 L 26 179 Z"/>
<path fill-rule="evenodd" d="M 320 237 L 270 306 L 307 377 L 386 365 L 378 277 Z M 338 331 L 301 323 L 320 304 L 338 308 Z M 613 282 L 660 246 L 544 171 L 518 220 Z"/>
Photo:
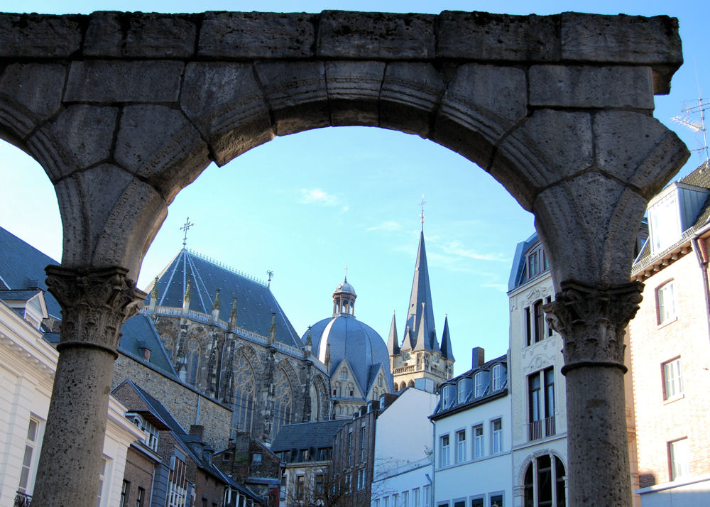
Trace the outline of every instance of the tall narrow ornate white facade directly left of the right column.
<path fill-rule="evenodd" d="M 512 401 L 511 507 L 567 505 L 567 398 L 562 337 L 542 307 L 555 299 L 550 267 L 533 234 L 518 244 L 508 280 L 510 398 Z"/>

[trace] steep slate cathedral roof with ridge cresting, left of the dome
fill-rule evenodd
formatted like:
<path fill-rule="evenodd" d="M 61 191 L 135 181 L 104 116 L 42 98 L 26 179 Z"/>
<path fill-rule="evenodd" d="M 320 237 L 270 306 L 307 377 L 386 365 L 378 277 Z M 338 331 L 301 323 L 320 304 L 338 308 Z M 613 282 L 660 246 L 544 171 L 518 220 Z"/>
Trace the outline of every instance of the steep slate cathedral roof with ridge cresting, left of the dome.
<path fill-rule="evenodd" d="M 276 315 L 276 341 L 298 349 L 303 347 L 293 325 L 266 285 L 187 249 L 182 249 L 158 276 L 158 306 L 182 308 L 187 280 L 191 280 L 190 310 L 211 315 L 219 288 L 221 320 L 229 322 L 232 300 L 236 296 L 238 327 L 268 336 L 273 312 Z M 153 285 L 151 283 L 146 289 L 146 305 L 150 303 Z"/>

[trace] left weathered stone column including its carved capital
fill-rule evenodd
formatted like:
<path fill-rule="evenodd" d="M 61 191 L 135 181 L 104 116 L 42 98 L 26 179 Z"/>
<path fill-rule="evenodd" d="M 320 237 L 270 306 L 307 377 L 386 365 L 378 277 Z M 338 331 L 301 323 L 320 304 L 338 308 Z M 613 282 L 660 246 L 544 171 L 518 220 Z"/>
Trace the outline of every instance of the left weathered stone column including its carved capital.
<path fill-rule="evenodd" d="M 124 268 L 46 271 L 50 293 L 62 306 L 62 340 L 32 503 L 91 507 L 119 329 L 146 294 L 126 279 Z"/>

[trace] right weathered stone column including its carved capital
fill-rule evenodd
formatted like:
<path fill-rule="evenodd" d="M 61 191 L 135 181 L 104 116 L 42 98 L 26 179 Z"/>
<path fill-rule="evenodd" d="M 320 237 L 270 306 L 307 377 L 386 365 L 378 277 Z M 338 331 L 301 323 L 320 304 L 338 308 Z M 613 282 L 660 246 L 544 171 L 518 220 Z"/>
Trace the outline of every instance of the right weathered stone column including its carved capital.
<path fill-rule="evenodd" d="M 560 284 L 543 310 L 564 341 L 570 506 L 631 506 L 623 336 L 643 284 Z"/>

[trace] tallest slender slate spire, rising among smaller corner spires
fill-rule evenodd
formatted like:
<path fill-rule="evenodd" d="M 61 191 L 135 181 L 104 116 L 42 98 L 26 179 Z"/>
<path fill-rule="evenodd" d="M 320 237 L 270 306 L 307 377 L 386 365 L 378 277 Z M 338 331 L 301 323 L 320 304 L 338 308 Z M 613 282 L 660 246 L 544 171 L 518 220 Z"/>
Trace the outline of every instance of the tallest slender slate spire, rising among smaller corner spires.
<path fill-rule="evenodd" d="M 436 336 L 432 337 L 432 332 L 436 325 L 434 322 L 432 291 L 429 283 L 429 267 L 427 265 L 424 231 L 422 231 L 419 236 L 419 250 L 417 251 L 417 262 L 414 268 L 412 293 L 409 298 L 407 325 L 412 330 L 413 339 L 417 340 L 417 342 L 420 336 L 425 337 L 423 344 L 414 343 L 417 350 L 432 350 L 437 347 L 433 345 L 433 342 L 436 341 Z M 420 331 L 421 327 L 424 327 L 424 329 Z"/>

